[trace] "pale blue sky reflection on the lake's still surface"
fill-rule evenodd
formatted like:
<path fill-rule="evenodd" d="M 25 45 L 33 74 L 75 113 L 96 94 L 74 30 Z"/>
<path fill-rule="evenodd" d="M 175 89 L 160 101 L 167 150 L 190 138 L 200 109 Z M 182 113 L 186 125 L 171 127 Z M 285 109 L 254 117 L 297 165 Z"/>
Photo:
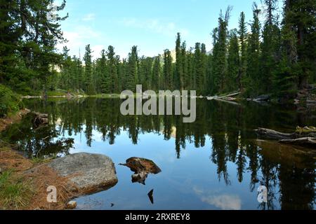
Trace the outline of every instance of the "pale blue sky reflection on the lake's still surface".
<path fill-rule="evenodd" d="M 246 170 L 244 180 L 239 183 L 237 165 L 228 162 L 230 184 L 225 184 L 223 176 L 218 181 L 217 165 L 210 158 L 212 146 L 209 137 L 206 137 L 203 148 L 195 148 L 187 141 L 179 160 L 175 139 L 165 141 L 162 134 L 140 134 L 138 144 L 133 145 L 128 133 L 121 130 L 115 144 L 110 145 L 103 141 L 100 132 L 93 130 L 91 147 L 86 144 L 84 132 L 71 137 L 74 138 L 74 148 L 70 153 L 109 156 L 116 165 L 119 179 L 119 183 L 110 190 L 77 199 L 79 209 L 258 209 L 258 186 L 251 193 L 249 171 Z M 131 183 L 132 172 L 118 165 L 131 157 L 154 160 L 162 172 L 150 174 L 145 186 Z M 147 197 L 151 189 L 154 189 L 154 204 L 150 204 Z M 114 207 L 111 208 L 112 203 Z"/>

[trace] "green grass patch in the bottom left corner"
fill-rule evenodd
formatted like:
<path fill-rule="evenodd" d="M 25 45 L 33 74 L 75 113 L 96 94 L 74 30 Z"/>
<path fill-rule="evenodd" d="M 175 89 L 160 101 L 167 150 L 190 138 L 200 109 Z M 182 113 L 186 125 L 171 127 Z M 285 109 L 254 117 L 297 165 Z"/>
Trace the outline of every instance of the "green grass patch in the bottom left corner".
<path fill-rule="evenodd" d="M 32 195 L 30 181 L 16 176 L 12 170 L 0 174 L 0 209 L 27 207 Z"/>

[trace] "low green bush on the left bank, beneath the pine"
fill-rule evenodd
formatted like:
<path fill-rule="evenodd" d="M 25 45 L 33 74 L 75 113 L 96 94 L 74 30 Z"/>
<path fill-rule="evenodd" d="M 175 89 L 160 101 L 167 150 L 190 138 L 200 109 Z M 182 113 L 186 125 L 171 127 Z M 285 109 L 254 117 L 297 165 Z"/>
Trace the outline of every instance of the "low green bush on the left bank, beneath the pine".
<path fill-rule="evenodd" d="M 0 118 L 10 116 L 23 108 L 18 94 L 0 84 Z"/>

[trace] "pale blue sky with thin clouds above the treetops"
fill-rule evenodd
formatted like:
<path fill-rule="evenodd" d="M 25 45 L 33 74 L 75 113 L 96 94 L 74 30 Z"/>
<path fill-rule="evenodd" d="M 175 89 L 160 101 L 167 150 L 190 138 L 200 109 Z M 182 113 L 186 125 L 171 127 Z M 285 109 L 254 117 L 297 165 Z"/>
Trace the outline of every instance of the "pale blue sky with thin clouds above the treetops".
<path fill-rule="evenodd" d="M 113 45 L 117 55 L 126 57 L 131 46 L 138 45 L 139 55 L 155 56 L 175 48 L 179 31 L 187 46 L 196 42 L 211 50 L 211 31 L 218 25 L 220 9 L 233 6 L 230 29 L 237 28 L 239 14 L 252 18 L 254 0 L 67 0 L 62 30 L 69 40 L 71 55 L 84 53 L 91 44 L 94 59 L 102 49 Z M 257 0 L 260 4 L 260 0 Z M 62 45 L 58 45 L 61 49 Z"/>

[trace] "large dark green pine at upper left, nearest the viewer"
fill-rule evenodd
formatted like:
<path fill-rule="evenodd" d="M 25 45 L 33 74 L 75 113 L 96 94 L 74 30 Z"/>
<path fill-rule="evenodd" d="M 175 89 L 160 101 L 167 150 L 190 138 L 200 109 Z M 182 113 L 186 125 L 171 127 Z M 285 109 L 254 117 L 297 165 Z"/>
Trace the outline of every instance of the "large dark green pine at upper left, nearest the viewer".
<path fill-rule="evenodd" d="M 65 1 L 53 12 L 53 1 L 0 2 L 0 82 L 15 90 L 31 92 L 46 87 L 48 77 L 54 74 L 52 64 L 58 64 L 62 55 L 55 52 L 58 41 L 63 42 L 61 18 L 46 15 L 65 8 Z"/>

